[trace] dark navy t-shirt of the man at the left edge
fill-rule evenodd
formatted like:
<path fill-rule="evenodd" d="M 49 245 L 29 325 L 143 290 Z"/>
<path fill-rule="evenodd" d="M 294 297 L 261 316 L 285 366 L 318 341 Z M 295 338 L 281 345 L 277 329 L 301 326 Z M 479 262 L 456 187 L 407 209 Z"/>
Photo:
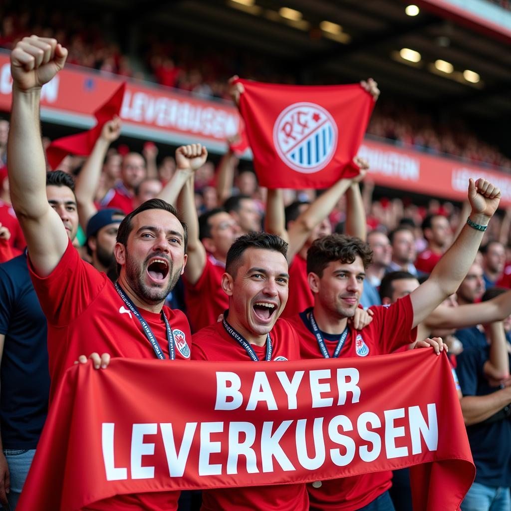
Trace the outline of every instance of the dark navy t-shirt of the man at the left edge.
<path fill-rule="evenodd" d="M 35 449 L 48 412 L 47 323 L 25 254 L 0 265 L 0 434 L 4 449 Z"/>

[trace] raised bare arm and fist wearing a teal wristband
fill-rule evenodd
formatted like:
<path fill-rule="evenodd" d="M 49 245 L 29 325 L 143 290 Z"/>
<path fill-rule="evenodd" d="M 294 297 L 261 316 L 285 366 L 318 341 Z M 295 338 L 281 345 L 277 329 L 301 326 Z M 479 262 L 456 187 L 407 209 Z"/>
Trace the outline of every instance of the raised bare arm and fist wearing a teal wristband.
<path fill-rule="evenodd" d="M 484 229 L 497 210 L 500 190 L 484 179 L 478 179 L 477 185 L 470 179 L 468 197 L 472 208 L 470 221 Z M 464 225 L 428 280 L 411 293 L 414 327 L 424 321 L 445 298 L 456 292 L 474 262 L 482 237 L 483 230 Z"/>

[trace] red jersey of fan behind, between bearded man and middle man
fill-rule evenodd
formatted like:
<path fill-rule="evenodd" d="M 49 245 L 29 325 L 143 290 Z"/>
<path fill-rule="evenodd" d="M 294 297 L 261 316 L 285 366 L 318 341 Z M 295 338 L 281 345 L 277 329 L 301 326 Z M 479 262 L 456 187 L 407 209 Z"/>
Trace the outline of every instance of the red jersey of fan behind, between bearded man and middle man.
<path fill-rule="evenodd" d="M 202 275 L 195 285 L 183 278 L 184 301 L 192 332 L 216 323 L 218 316 L 229 308 L 229 297 L 222 289 L 224 273 L 225 264 L 208 254 Z"/>

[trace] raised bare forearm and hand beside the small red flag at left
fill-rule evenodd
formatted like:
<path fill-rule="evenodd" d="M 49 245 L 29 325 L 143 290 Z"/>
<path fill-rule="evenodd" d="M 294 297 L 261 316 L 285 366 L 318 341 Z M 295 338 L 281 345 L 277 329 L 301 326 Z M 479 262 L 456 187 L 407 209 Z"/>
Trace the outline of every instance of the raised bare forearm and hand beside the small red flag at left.
<path fill-rule="evenodd" d="M 101 169 L 108 147 L 119 138 L 121 134 L 121 119 L 117 115 L 105 123 L 101 134 L 85 161 L 85 164 L 75 181 L 75 195 L 78 206 L 78 217 L 83 230 L 86 230 L 90 217 L 96 215 L 98 210 L 94 198 L 98 190 Z"/>

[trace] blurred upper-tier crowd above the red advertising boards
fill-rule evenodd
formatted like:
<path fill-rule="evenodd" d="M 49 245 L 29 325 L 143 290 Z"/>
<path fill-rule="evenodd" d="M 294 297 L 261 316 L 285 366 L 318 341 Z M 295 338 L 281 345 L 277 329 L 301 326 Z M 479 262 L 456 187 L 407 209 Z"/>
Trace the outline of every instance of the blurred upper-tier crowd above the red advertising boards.
<path fill-rule="evenodd" d="M 5 12 L 0 47 L 10 49 L 17 40 L 31 33 L 62 41 L 69 50 L 69 63 L 156 81 L 205 98 L 229 99 L 227 79 L 234 74 L 254 80 L 296 83 L 296 76 L 275 71 L 276 67 L 267 59 L 227 48 L 221 51 L 218 47 L 199 48 L 156 33 L 144 34 L 138 59 L 141 65 L 135 66 L 137 71 L 134 71 L 132 58 L 123 52 L 114 31 L 108 31 L 107 37 L 100 25 L 59 9 L 51 13 Z M 402 102 L 398 105 L 388 99 L 380 100 L 368 133 L 417 150 L 511 169 L 511 160 L 497 147 L 481 140 L 462 120 L 440 120 L 430 111 L 421 112 Z"/>

